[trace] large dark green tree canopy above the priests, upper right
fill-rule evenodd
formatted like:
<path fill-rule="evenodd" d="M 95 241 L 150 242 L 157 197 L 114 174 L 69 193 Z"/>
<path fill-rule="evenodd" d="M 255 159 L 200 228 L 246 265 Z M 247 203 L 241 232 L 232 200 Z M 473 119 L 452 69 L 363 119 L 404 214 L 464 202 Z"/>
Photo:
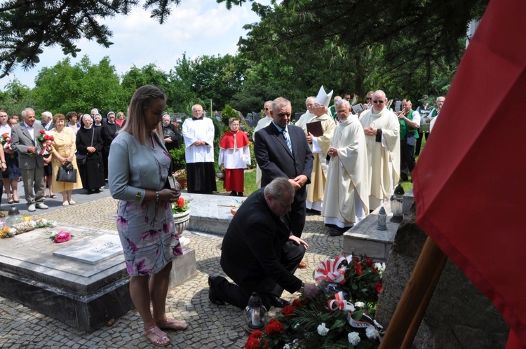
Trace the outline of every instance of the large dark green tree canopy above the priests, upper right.
<path fill-rule="evenodd" d="M 462 8 L 454 0 L 254 3 L 262 20 L 245 26 L 250 32 L 240 50 L 255 62 L 284 57 L 295 83 L 304 81 L 305 87 L 310 81 L 311 88 L 330 84 L 336 93 L 382 88 L 419 95 L 429 93 L 441 71 L 455 71 L 467 24 L 480 18 L 487 2 L 468 0 Z"/>

